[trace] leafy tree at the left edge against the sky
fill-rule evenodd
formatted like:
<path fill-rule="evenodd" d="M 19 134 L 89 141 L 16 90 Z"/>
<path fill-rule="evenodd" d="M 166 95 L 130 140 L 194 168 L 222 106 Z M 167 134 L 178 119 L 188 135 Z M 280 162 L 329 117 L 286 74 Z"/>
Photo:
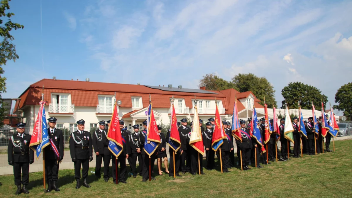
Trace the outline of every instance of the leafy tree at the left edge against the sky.
<path fill-rule="evenodd" d="M 4 74 L 4 69 L 2 68 L 6 65 L 9 60 L 16 61 L 18 57 L 15 49 L 15 45 L 12 43 L 14 37 L 10 34 L 12 29 L 23 29 L 24 26 L 18 23 L 13 23 L 11 17 L 15 14 L 8 12 L 10 5 L 8 2 L 11 0 L 2 0 L 0 2 L 0 36 L 1 36 L 1 46 L 0 46 L 0 103 L 2 104 L 1 93 L 6 92 L 6 78 L 1 76 Z M 6 20 L 6 23 L 5 23 Z M 5 109 L 0 107 L 0 125 L 3 125 Z"/>

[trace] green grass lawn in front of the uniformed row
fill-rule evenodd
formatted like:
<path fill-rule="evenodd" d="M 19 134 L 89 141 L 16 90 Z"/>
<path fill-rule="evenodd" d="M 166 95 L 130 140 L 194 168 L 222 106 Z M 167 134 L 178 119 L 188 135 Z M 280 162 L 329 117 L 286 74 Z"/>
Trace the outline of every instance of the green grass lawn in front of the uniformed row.
<path fill-rule="evenodd" d="M 94 168 L 90 168 L 88 181 L 92 187 L 81 186 L 78 190 L 74 170 L 62 170 L 58 182 L 61 191 L 46 194 L 42 172 L 30 173 L 30 194 L 18 196 L 14 194 L 13 175 L 5 175 L 0 176 L 0 197 L 352 197 L 352 140 L 335 144 L 335 152 L 272 162 L 261 169 L 232 168 L 230 173 L 222 174 L 204 169 L 206 175 L 186 173 L 176 180 L 163 175 L 151 182 L 141 182 L 142 177 L 137 176 L 128 178 L 128 184 L 115 185 L 112 178 L 107 183 L 96 180 L 90 173 Z"/>

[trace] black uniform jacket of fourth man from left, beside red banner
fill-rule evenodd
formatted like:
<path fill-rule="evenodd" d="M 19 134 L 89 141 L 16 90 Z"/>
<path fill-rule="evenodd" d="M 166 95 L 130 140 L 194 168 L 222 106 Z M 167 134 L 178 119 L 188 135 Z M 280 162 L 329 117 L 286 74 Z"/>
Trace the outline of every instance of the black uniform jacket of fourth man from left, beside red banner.
<path fill-rule="evenodd" d="M 106 137 L 106 131 L 103 130 L 102 132 L 98 129 L 93 132 L 93 147 L 94 152 L 99 152 L 99 154 L 110 155 L 111 152 L 109 150 L 109 140 Z"/>

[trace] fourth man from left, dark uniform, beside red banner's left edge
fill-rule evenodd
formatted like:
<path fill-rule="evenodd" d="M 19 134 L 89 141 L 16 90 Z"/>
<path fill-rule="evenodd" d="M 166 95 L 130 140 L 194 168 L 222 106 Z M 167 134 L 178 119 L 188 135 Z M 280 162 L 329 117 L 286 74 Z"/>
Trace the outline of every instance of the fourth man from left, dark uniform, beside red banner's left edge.
<path fill-rule="evenodd" d="M 109 180 L 109 164 L 111 160 L 111 152 L 109 150 L 109 140 L 105 131 L 105 121 L 99 122 L 99 129 L 93 134 L 93 147 L 96 155 L 95 176 L 100 178 L 101 160 L 104 161 L 104 181 Z"/>

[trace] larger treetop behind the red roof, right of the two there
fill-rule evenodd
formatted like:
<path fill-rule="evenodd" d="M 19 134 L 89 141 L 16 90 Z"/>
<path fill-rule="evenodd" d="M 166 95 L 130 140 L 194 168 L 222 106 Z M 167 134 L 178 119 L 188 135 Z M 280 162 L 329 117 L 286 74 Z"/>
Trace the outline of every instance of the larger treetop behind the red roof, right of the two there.
<path fill-rule="evenodd" d="M 251 91 L 260 101 L 261 105 L 265 102 L 269 108 L 277 107 L 275 101 L 275 90 L 265 77 L 258 77 L 252 73 L 238 74 L 232 78 L 232 83 L 239 92 Z"/>

